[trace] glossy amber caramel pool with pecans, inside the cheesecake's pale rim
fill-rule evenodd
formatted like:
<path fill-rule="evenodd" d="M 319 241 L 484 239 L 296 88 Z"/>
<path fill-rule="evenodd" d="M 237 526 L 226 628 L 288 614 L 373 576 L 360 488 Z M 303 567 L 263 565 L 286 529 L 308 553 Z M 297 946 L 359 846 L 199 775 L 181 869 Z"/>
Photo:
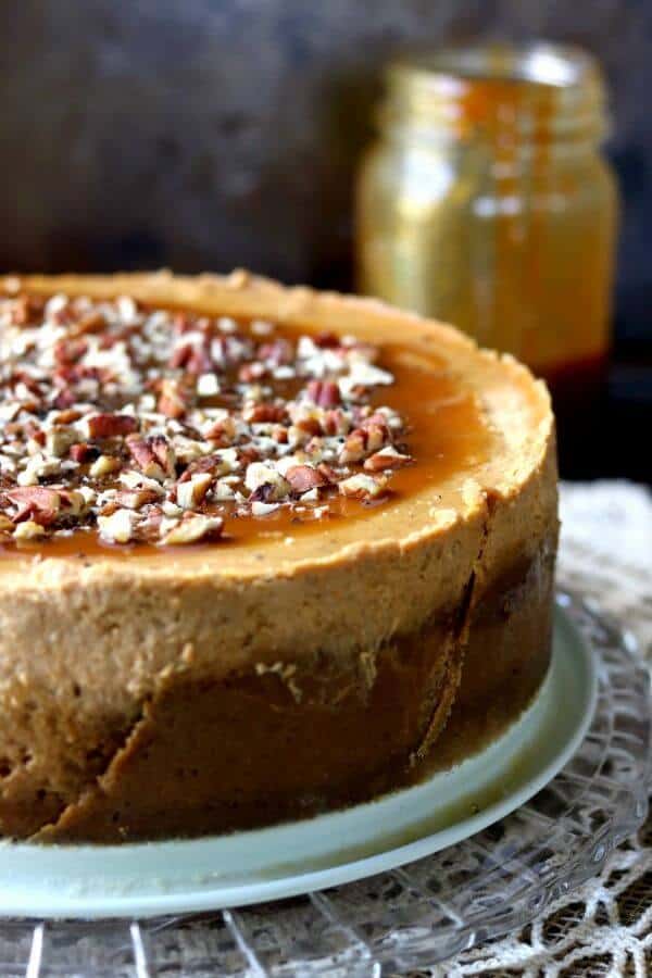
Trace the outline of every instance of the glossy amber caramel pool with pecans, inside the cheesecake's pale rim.
<path fill-rule="evenodd" d="M 35 553 L 70 557 L 111 553 L 133 560 L 151 555 L 153 551 L 170 549 L 178 552 L 189 546 L 192 549 L 237 547 L 269 536 L 293 538 L 298 534 L 321 532 L 327 524 L 333 527 L 341 519 L 372 519 L 378 509 L 392 506 L 398 500 L 436 486 L 457 473 L 469 472 L 489 456 L 496 436 L 486 425 L 481 406 L 435 352 L 415 351 L 409 343 L 384 343 L 373 349 L 354 337 L 325 337 L 310 328 L 290 329 L 266 322 L 218 321 L 224 327 L 221 333 L 214 323 L 206 325 L 209 321 L 199 316 L 188 318 L 185 313 L 174 310 L 135 310 L 123 305 L 125 324 L 120 318 L 121 301 L 128 303 L 131 300 L 116 300 L 109 309 L 104 305 L 88 308 L 82 300 L 78 301 L 79 309 L 74 308 L 71 312 L 71 306 L 64 304 L 68 300 L 60 297 L 49 300 L 65 324 L 66 350 L 72 342 L 79 342 L 79 338 L 85 342 L 86 336 L 111 336 L 122 329 L 127 342 L 134 342 L 127 349 L 131 353 L 136 351 L 134 356 L 140 352 L 141 363 L 136 364 L 136 372 L 138 379 L 145 383 L 142 391 L 136 396 L 134 378 L 127 376 L 125 384 L 128 381 L 131 387 L 127 396 L 121 388 L 121 378 L 115 379 L 111 374 L 110 358 L 102 360 L 97 353 L 97 342 L 89 347 L 95 356 L 91 362 L 108 364 L 108 373 L 98 378 L 91 371 L 86 371 L 90 379 L 99 384 L 96 397 L 92 391 L 87 397 L 91 402 L 89 411 L 78 406 L 77 400 L 83 400 L 78 390 L 67 398 L 71 400 L 68 408 L 59 406 L 61 393 L 64 392 L 65 400 L 68 390 L 61 383 L 55 391 L 59 400 L 53 404 L 50 391 L 43 387 L 42 369 L 42 377 L 36 368 L 32 378 L 18 380 L 26 385 L 27 397 L 33 390 L 36 400 L 50 398 L 45 405 L 41 401 L 40 405 L 32 406 L 36 416 L 50 419 L 48 444 L 52 438 L 53 410 L 61 412 L 67 428 L 72 415 L 65 412 L 82 414 L 80 418 L 72 421 L 77 426 L 74 432 L 67 430 L 66 424 L 54 425 L 58 429 L 66 429 L 67 434 L 59 434 L 73 439 L 70 451 L 79 462 L 64 471 L 54 467 L 49 472 L 43 455 L 45 475 L 37 471 L 35 479 L 22 479 L 26 492 L 21 489 L 20 477 L 16 485 L 15 477 L 3 475 L 0 501 L 4 494 L 4 512 L 14 521 L 14 526 L 20 526 L 21 522 L 26 522 L 20 506 L 27 506 L 27 521 L 36 524 L 36 529 L 34 539 L 26 536 L 15 540 L 0 535 L 0 555 L 15 557 L 20 552 L 28 557 Z M 17 313 L 15 310 L 15 305 L 11 306 L 10 317 L 15 321 L 16 316 L 23 316 L 27 322 L 16 324 L 10 319 L 10 328 L 18 325 L 29 329 L 30 313 L 24 299 Z M 65 311 L 63 314 L 62 310 Z M 7 315 L 7 310 L 4 312 Z M 45 312 L 38 311 L 35 319 L 38 322 L 43 315 L 48 315 L 48 304 Z M 161 334 L 165 317 L 174 324 L 174 346 L 172 350 L 161 352 L 163 340 L 154 334 L 156 330 Z M 152 319 L 156 328 L 153 338 L 150 337 L 151 349 L 143 351 L 138 344 L 141 336 L 145 335 L 147 340 Z M 78 326 L 80 321 L 83 328 Z M 40 323 L 39 328 L 43 328 Z M 133 340 L 134 336 L 136 340 Z M 249 348 L 238 352 L 240 341 Z M 57 343 L 60 342 L 61 339 L 57 339 Z M 102 339 L 100 346 L 103 342 Z M 221 364 L 212 359 L 215 342 L 217 352 L 222 349 L 225 353 L 225 362 Z M 229 342 L 236 355 L 228 353 Z M 261 347 L 268 353 L 263 372 L 258 366 L 264 359 Z M 27 349 L 30 349 L 29 344 Z M 121 350 L 124 352 L 124 347 Z M 338 356 L 344 358 L 339 366 Z M 159 368 L 155 358 L 164 367 Z M 61 359 L 68 369 L 65 358 Z M 84 354 L 76 363 L 84 366 Z M 37 367 L 41 366 L 37 361 Z M 127 374 L 133 367 L 133 363 L 120 365 Z M 4 369 L 5 397 L 8 387 L 10 394 L 16 396 L 15 379 Z M 50 374 L 45 373 L 49 379 Z M 74 391 L 75 375 L 71 376 Z M 14 386 L 10 387 L 10 384 Z M 197 396 L 195 390 L 192 392 L 191 406 L 184 400 L 188 398 L 190 386 L 198 392 Z M 87 393 L 88 388 L 84 392 Z M 20 389 L 17 393 L 24 397 L 25 390 Z M 126 405 L 130 406 L 125 410 Z M 286 405 L 289 405 L 287 410 Z M 237 418 L 239 434 L 229 428 L 231 416 Z M 135 417 L 137 424 L 124 421 L 125 417 Z M 198 434 L 198 418 L 201 418 L 202 435 Z M 246 436 L 242 418 L 248 418 L 249 424 Z M 215 434 L 221 426 L 225 428 L 225 422 L 226 430 Z M 79 426 L 84 425 L 86 437 L 82 440 Z M 150 430 L 154 434 L 149 434 Z M 39 430 L 33 428 L 30 437 L 36 439 L 37 448 L 45 443 L 46 435 Z M 203 455 L 192 456 L 192 452 L 199 450 L 186 441 L 206 437 L 214 439 L 208 450 L 203 444 Z M 277 452 L 271 440 L 274 437 L 289 437 L 296 443 L 288 447 L 286 442 L 286 447 Z M 84 449 L 76 448 L 78 444 L 88 448 L 88 459 L 84 457 Z M 233 462 L 234 447 L 240 459 L 229 471 L 220 460 Z M 34 444 L 30 451 L 33 456 L 38 455 Z M 204 464 L 202 460 L 206 455 L 209 462 Z M 290 455 L 297 464 L 289 468 L 286 464 L 283 468 L 281 463 L 276 469 L 284 455 Z M 66 446 L 59 457 L 68 460 Z M 98 459 L 109 459 L 109 462 L 100 461 L 98 468 Z M 95 478 L 92 473 L 99 472 L 103 464 L 106 472 Z M 114 464 L 116 471 L 112 472 Z M 162 469 L 166 465 L 168 471 L 164 474 Z M 265 468 L 267 465 L 272 475 Z M 120 481 L 125 472 L 131 479 L 127 486 Z M 140 482 L 133 475 L 135 472 L 143 476 Z M 160 490 L 156 480 L 163 487 Z M 196 485 L 199 488 L 193 502 L 188 492 Z M 99 494 L 99 502 L 92 501 L 92 515 L 88 522 L 80 521 L 78 525 L 72 521 L 66 524 L 65 519 L 62 525 L 57 522 L 58 516 L 51 517 L 47 512 L 43 515 L 43 509 L 39 507 L 46 504 L 30 492 L 30 487 L 52 487 L 60 496 L 58 505 L 67 507 L 70 493 L 79 492 L 84 486 Z M 229 487 L 234 487 L 235 498 L 228 496 Z M 23 498 L 25 502 L 22 502 Z M 33 498 L 36 503 L 30 501 Z M 162 512 L 164 503 L 166 509 Z M 83 505 L 77 500 L 75 504 Z M 61 512 L 60 509 L 59 514 Z M 111 521 L 116 512 L 118 523 L 115 525 L 120 532 L 115 531 L 112 539 Z M 185 540 L 183 530 L 192 519 L 203 521 L 204 532 Z M 121 538 L 125 527 L 127 534 L 135 527 L 134 538 Z M 181 527 L 181 537 L 175 539 L 178 527 Z"/>

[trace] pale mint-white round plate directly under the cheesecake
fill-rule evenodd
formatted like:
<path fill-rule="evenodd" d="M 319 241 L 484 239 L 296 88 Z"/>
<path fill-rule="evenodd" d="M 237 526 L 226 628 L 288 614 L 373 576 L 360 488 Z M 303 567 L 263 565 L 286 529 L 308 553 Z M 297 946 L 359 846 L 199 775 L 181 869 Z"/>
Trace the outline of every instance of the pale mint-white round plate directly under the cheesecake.
<path fill-rule="evenodd" d="M 524 804 L 566 764 L 593 714 L 590 650 L 556 609 L 537 699 L 475 757 L 416 787 L 303 822 L 126 845 L 0 843 L 0 914 L 129 917 L 292 896 L 429 855 Z"/>

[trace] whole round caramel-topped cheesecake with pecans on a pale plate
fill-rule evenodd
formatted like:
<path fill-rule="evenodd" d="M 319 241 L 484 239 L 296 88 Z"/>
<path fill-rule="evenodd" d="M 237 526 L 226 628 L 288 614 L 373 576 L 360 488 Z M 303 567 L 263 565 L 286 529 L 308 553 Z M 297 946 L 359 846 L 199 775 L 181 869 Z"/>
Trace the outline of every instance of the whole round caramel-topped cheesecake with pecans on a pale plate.
<path fill-rule="evenodd" d="M 544 386 L 449 326 L 0 280 L 0 833 L 242 829 L 460 760 L 546 676 L 556 539 Z"/>

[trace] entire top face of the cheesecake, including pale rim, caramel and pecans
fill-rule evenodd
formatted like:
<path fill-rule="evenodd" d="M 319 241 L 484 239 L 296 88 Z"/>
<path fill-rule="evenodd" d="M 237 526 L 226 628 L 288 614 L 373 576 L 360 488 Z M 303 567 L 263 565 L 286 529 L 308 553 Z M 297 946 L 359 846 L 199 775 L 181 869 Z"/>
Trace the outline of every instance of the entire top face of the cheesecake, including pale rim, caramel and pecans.
<path fill-rule="evenodd" d="M 0 291 L 5 557 L 330 560 L 509 493 L 550 438 L 524 368 L 369 300 L 242 273 Z"/>

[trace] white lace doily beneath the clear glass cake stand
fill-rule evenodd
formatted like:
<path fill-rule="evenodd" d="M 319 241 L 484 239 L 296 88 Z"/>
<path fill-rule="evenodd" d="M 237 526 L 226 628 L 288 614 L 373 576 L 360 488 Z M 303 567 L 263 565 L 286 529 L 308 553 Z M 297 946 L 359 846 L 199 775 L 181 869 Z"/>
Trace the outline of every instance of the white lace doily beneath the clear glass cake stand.
<path fill-rule="evenodd" d="M 629 482 L 565 484 L 557 578 L 636 636 L 652 664 L 652 496 Z M 652 786 L 650 786 L 652 790 Z M 523 931 L 481 944 L 432 978 L 652 975 L 652 816 L 599 876 Z"/>

